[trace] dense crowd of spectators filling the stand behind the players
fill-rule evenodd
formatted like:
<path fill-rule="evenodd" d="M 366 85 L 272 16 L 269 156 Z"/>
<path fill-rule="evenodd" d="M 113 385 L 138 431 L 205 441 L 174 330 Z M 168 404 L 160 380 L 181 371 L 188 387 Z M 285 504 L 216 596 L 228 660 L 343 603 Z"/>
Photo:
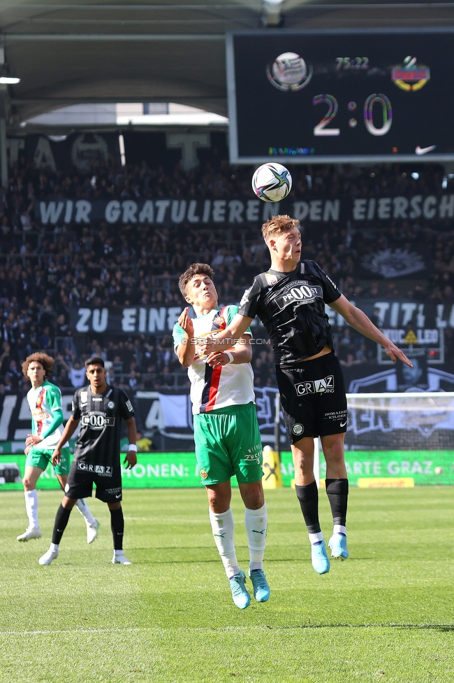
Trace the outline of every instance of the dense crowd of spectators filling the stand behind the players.
<path fill-rule="evenodd" d="M 453 179 L 437 165 L 293 167 L 293 186 L 307 201 L 317 197 L 353 199 L 395 195 L 439 195 L 453 191 Z M 183 307 L 178 277 L 191 262 L 207 262 L 216 272 L 219 300 L 237 302 L 258 272 L 269 266 L 259 227 L 191 224 L 173 226 L 43 226 L 34 215 L 42 198 L 125 199 L 158 197 L 251 197 L 251 169 L 230 167 L 213 151 L 196 169 L 159 165 L 115 167 L 98 164 L 90 171 L 38 169 L 20 160 L 8 189 L 0 190 L 0 394 L 26 391 L 20 363 L 44 349 L 56 359 L 61 387 L 80 386 L 83 362 L 90 355 L 108 360 L 110 381 L 138 388 L 186 386 L 168 335 L 85 339 L 69 325 L 71 307 L 115 305 Z M 295 190 L 294 190 L 295 192 Z M 316 260 L 351 298 L 385 297 L 454 303 L 454 230 L 451 219 L 389 220 L 352 223 L 339 220 L 304 224 L 302 258 Z M 377 249 L 420 252 L 430 268 L 423 276 L 373 279 L 360 260 Z M 346 328 L 335 330 L 339 357 L 346 365 L 367 362 L 374 348 Z M 271 386 L 270 346 L 255 353 L 257 386 Z"/>

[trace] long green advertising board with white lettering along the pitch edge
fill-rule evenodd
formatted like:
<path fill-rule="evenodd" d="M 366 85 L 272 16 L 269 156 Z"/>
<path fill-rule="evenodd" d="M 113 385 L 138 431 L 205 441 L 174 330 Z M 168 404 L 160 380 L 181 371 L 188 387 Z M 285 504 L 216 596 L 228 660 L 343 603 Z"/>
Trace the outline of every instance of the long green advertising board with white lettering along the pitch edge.
<path fill-rule="evenodd" d="M 346 470 L 351 486 L 358 479 L 411 478 L 416 486 L 454 485 L 454 456 L 445 451 L 346 451 Z M 0 491 L 22 491 L 25 456 L 17 453 L 0 456 Z M 325 461 L 321 458 L 321 479 Z M 284 486 L 291 486 L 295 470 L 290 451 L 281 453 L 281 476 Z M 372 482 L 373 483 L 373 482 Z M 196 456 L 182 453 L 138 453 L 132 470 L 122 468 L 123 488 L 201 488 L 203 486 Z M 237 486 L 235 477 L 232 485 Z M 41 474 L 38 489 L 58 490 L 53 467 Z"/>

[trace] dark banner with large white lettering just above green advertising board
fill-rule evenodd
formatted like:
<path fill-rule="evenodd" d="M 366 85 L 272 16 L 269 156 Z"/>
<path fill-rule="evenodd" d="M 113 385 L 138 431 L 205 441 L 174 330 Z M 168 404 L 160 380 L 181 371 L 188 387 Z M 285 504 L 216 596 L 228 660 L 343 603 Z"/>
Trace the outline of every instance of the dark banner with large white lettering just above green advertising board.
<path fill-rule="evenodd" d="M 407 351 L 410 353 L 410 351 Z M 450 449 L 454 439 L 454 397 L 446 395 L 446 401 L 437 410 L 416 407 L 408 411 L 400 409 L 397 392 L 432 391 L 443 396 L 454 390 L 454 373 L 428 365 L 424 359 L 411 355 L 413 367 L 395 365 L 389 367 L 372 362 L 342 366 L 346 386 L 352 394 L 349 399 L 349 421 L 345 437 L 346 449 L 350 451 Z M 277 388 L 255 387 L 258 425 L 263 445 L 274 444 L 274 398 Z M 307 391 L 310 392 L 308 387 Z M 364 393 L 388 392 L 386 398 L 373 405 L 354 405 L 353 396 Z M 393 396 L 394 394 L 395 397 Z M 62 406 L 65 420 L 71 415 L 73 390 L 64 389 Z M 170 389 L 159 391 L 139 390 L 131 394 L 136 411 L 138 446 L 140 451 L 192 451 L 193 425 L 191 401 L 187 393 L 175 393 Z M 31 431 L 31 414 L 27 397 L 19 394 L 0 396 L 0 453 L 24 452 L 25 439 Z M 75 438 L 77 437 L 77 432 Z M 122 445 L 126 444 L 126 432 Z M 280 425 L 281 449 L 288 448 L 284 421 Z M 74 440 L 70 445 L 74 446 Z"/>

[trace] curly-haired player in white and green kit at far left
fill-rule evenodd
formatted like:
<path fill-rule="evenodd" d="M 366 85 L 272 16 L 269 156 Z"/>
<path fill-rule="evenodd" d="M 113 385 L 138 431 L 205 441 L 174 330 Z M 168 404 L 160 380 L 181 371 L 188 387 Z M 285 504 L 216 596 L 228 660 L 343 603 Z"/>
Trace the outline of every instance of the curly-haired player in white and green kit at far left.
<path fill-rule="evenodd" d="M 53 369 L 54 359 L 47 353 L 32 353 L 22 363 L 22 372 L 31 381 L 27 400 L 31 411 L 32 433 L 28 435 L 25 442 L 27 459 L 24 479 L 22 479 L 29 526 L 23 534 L 17 536 L 18 541 L 28 541 L 43 535 L 38 524 L 36 482 L 52 459 L 52 453 L 63 432 L 61 425 L 64 423 L 60 390 L 46 379 L 47 376 L 52 376 Z M 54 469 L 60 486 L 64 489 L 66 479 L 68 479 L 70 452 L 68 446 L 61 451 L 61 462 L 55 465 Z M 92 543 L 98 535 L 99 522 L 94 519 L 85 500 L 78 500 L 76 505 L 85 517 L 87 543 Z"/>

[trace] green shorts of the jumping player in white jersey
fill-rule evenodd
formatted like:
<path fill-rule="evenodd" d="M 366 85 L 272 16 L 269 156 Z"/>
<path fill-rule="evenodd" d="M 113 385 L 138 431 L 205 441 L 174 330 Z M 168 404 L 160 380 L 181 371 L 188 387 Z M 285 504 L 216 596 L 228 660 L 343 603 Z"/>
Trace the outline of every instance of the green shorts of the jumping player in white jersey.
<path fill-rule="evenodd" d="M 261 480 L 262 442 L 254 403 L 194 415 L 193 423 L 202 484 L 221 484 L 234 474 L 240 484 Z"/>

